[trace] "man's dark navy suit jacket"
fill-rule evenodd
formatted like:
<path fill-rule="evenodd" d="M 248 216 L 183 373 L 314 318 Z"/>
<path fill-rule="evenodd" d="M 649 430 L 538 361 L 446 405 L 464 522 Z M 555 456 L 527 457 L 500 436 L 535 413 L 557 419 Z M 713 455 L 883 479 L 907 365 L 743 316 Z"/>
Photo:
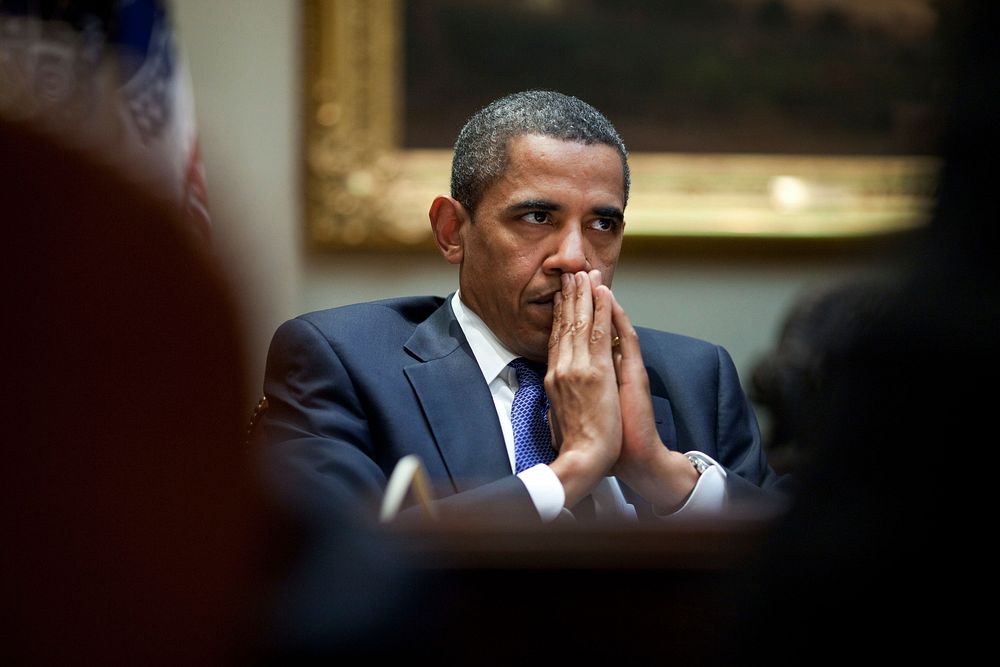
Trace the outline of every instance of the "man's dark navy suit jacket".
<path fill-rule="evenodd" d="M 781 486 L 729 354 L 694 338 L 638 331 L 667 447 L 718 461 L 730 498 Z M 374 516 L 396 462 L 416 454 L 441 511 L 537 519 L 511 472 L 489 387 L 450 298 L 361 303 L 285 322 L 271 342 L 264 394 L 269 465 L 302 493 Z M 623 489 L 647 515 L 648 503 Z"/>

